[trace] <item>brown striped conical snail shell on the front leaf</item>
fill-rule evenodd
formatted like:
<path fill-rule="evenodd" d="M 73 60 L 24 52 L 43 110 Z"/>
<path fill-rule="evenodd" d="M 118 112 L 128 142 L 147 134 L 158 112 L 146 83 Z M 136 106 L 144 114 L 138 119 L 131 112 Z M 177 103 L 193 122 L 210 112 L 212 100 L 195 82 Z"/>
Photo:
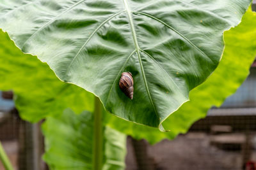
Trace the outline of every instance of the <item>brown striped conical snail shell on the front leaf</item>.
<path fill-rule="evenodd" d="M 124 72 L 119 81 L 119 87 L 124 92 L 124 94 L 133 99 L 133 78 L 132 73 Z"/>

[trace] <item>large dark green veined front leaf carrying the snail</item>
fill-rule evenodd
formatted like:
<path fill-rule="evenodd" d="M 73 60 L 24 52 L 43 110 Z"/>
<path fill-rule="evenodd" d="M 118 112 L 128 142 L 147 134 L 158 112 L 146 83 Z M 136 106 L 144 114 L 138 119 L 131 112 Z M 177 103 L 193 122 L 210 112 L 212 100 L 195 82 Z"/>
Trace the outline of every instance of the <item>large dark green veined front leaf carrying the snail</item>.
<path fill-rule="evenodd" d="M 157 127 L 214 71 L 250 0 L 0 1 L 0 27 L 106 110 Z M 134 78 L 131 101 L 118 87 Z"/>

